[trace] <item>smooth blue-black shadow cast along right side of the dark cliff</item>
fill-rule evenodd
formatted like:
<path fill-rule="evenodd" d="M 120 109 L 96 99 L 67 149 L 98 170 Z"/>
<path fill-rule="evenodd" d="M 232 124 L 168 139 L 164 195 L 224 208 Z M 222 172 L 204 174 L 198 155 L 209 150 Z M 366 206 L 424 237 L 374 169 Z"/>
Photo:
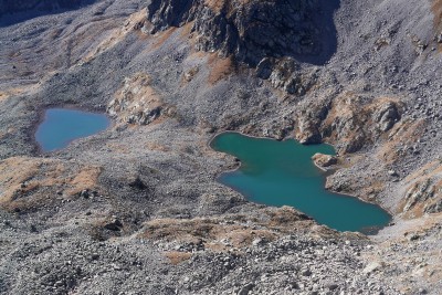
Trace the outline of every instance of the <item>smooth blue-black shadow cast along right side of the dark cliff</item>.
<path fill-rule="evenodd" d="M 315 27 L 320 30 L 319 35 L 315 40 L 322 48 L 320 53 L 316 55 L 294 54 L 293 57 L 298 62 L 324 65 L 337 50 L 337 31 L 334 15 L 340 7 L 340 0 L 319 0 L 318 2 L 320 10 L 313 15 L 313 20 Z"/>

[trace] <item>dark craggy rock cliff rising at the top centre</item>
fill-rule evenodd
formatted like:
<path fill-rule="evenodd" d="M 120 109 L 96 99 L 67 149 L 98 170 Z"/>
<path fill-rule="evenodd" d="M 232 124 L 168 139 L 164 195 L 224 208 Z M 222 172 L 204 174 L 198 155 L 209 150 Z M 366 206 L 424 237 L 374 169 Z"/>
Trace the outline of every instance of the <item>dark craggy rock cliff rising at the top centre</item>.
<path fill-rule="evenodd" d="M 193 22 L 196 48 L 233 54 L 256 65 L 263 57 L 318 55 L 317 0 L 154 0 L 150 33 Z"/>

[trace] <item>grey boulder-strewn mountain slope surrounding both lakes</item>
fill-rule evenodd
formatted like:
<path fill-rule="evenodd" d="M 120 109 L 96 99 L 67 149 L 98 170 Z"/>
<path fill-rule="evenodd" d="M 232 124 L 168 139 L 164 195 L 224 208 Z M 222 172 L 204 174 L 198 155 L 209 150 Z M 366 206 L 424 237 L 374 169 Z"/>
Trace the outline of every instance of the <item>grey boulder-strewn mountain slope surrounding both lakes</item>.
<path fill-rule="evenodd" d="M 0 293 L 439 293 L 439 1 L 75 8 L 8 8 L 0 28 Z M 115 125 L 43 155 L 51 106 Z M 327 188 L 392 224 L 367 238 L 248 202 L 215 181 L 238 165 L 207 145 L 225 129 L 334 144 Z"/>

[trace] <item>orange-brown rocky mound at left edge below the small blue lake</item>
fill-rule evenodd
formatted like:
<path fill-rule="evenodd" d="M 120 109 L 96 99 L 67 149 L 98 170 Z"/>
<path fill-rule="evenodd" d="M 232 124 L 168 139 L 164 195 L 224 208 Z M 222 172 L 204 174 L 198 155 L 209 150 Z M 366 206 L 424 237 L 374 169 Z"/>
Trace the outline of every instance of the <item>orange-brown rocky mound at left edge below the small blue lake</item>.
<path fill-rule="evenodd" d="M 98 189 L 101 168 L 62 160 L 14 157 L 0 161 L 0 206 L 31 209 L 55 199 L 72 198 L 86 189 Z"/>

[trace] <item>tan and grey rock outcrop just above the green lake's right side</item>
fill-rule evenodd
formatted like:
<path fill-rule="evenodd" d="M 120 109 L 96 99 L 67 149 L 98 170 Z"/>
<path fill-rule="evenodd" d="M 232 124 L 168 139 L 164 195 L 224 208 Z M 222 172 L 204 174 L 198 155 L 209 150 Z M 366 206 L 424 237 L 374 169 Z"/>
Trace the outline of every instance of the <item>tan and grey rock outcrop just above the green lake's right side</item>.
<path fill-rule="evenodd" d="M 377 98 L 343 94 L 332 104 L 320 102 L 298 112 L 296 138 L 303 144 L 324 139 L 335 143 L 340 152 L 355 152 L 378 140 L 400 119 L 401 104 L 391 98 Z"/>

